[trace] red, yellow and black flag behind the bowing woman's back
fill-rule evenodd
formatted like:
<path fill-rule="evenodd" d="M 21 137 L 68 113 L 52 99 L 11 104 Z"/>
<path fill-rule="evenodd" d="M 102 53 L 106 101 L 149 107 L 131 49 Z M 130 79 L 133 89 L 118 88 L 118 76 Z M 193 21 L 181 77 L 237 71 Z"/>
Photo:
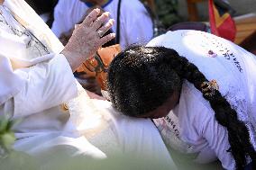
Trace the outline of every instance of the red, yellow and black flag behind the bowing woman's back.
<path fill-rule="evenodd" d="M 209 20 L 213 34 L 233 41 L 236 28 L 231 13 L 233 9 L 224 0 L 209 0 Z"/>

